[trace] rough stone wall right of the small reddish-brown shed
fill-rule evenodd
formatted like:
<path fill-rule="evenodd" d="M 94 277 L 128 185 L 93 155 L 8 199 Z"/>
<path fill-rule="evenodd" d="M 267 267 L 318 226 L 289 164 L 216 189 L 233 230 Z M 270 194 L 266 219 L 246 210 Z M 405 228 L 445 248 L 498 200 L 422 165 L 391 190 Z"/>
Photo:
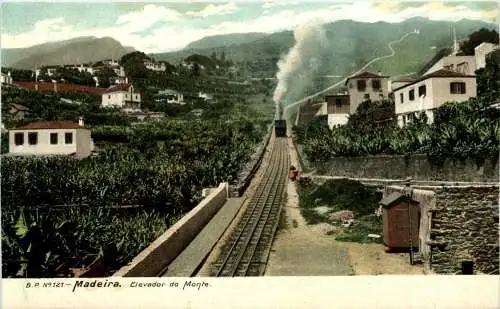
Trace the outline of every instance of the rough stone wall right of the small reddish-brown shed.
<path fill-rule="evenodd" d="M 385 193 L 403 190 L 391 186 Z M 462 261 L 473 261 L 475 273 L 498 274 L 498 194 L 498 186 L 489 185 L 412 190 L 421 207 L 419 244 L 428 273 L 457 274 Z"/>

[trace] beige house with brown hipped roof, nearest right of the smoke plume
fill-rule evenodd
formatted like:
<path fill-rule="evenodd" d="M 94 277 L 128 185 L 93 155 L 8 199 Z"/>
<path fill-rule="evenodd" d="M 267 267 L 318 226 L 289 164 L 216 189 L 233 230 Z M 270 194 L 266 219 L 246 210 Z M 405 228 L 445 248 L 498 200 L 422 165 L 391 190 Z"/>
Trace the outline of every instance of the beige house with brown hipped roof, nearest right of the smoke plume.
<path fill-rule="evenodd" d="M 354 114 L 364 101 L 379 101 L 389 95 L 389 77 L 381 73 L 359 73 L 347 78 L 345 85 L 349 92 L 350 114 Z"/>

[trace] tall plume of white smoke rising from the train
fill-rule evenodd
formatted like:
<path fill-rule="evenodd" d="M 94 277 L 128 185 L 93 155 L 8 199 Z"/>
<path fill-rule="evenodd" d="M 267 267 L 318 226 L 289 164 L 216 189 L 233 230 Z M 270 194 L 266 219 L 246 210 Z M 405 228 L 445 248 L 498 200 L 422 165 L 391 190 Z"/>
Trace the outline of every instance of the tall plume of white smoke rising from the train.
<path fill-rule="evenodd" d="M 302 25 L 294 31 L 295 44 L 287 55 L 278 61 L 278 85 L 273 100 L 277 105 L 303 95 L 316 76 L 328 51 L 328 40 L 323 27 Z"/>

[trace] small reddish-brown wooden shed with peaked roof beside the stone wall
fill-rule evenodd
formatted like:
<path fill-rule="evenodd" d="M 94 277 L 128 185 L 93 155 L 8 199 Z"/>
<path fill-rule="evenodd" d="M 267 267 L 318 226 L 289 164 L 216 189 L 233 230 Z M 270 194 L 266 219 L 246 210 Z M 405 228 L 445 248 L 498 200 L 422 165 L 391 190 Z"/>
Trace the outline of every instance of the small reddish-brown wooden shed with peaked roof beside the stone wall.
<path fill-rule="evenodd" d="M 420 205 L 399 192 L 394 192 L 380 201 L 384 225 L 384 243 L 389 250 L 418 250 Z"/>

